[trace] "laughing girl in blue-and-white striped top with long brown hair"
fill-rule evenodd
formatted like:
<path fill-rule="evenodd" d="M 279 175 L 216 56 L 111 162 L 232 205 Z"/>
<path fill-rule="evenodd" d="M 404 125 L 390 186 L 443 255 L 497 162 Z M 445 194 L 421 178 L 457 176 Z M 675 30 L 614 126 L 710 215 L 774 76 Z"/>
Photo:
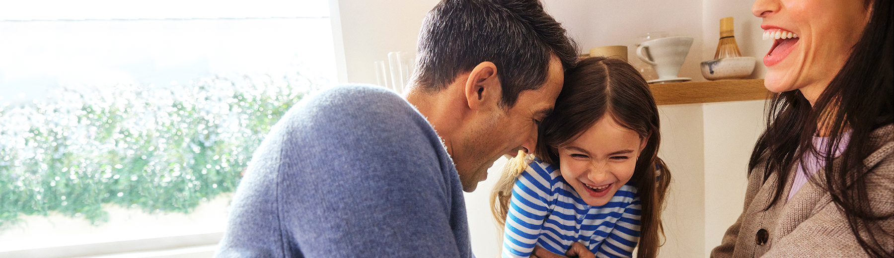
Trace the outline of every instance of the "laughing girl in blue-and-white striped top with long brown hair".
<path fill-rule="evenodd" d="M 565 78 L 534 158 L 519 152 L 491 196 L 502 257 L 535 246 L 597 257 L 655 257 L 671 173 L 656 154 L 658 109 L 645 79 L 620 59 L 589 57 Z"/>

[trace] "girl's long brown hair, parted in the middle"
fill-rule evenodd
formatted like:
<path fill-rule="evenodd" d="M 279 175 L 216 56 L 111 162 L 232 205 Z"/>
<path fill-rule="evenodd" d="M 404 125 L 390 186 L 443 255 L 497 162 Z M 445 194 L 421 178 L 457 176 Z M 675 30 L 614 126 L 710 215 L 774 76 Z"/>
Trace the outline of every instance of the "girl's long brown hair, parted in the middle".
<path fill-rule="evenodd" d="M 645 79 L 633 66 L 601 56 L 578 62 L 565 77 L 555 110 L 541 123 L 535 155 L 543 162 L 558 164 L 557 147 L 574 141 L 606 115 L 648 138 L 630 180 L 635 182 L 642 204 L 637 257 L 652 258 L 658 255 L 664 238 L 661 212 L 671 171 L 657 156 L 662 138 L 658 108 Z M 491 212 L 501 230 L 506 223 L 512 187 L 530 159 L 519 154 L 510 160 L 493 189 Z"/>

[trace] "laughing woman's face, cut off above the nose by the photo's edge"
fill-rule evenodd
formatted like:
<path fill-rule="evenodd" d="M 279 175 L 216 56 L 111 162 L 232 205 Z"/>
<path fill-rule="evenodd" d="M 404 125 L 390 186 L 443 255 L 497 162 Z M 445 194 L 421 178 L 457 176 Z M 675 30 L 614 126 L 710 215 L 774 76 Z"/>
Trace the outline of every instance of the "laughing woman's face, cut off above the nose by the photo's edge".
<path fill-rule="evenodd" d="M 862 0 L 756 0 L 752 12 L 773 43 L 764 84 L 772 92 L 801 89 L 811 102 L 848 60 L 869 17 Z"/>

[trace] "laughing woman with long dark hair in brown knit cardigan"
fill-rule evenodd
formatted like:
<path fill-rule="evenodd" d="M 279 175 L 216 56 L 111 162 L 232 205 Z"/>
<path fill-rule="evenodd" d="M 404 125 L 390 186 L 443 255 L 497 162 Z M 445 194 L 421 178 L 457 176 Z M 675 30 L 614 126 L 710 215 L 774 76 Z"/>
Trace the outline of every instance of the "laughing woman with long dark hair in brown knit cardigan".
<path fill-rule="evenodd" d="M 889 0 L 757 0 L 779 93 L 749 162 L 745 210 L 712 257 L 891 257 Z"/>

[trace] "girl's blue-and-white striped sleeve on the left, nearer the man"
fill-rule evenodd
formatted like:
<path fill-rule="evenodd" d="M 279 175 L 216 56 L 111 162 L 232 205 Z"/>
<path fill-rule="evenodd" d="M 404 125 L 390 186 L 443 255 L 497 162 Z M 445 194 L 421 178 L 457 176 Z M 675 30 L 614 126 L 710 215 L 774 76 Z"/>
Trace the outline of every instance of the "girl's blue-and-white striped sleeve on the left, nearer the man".
<path fill-rule="evenodd" d="M 538 162 L 532 162 L 519 175 L 512 187 L 506 226 L 503 228 L 503 258 L 531 256 L 555 199 L 552 195 L 554 180 Z"/>

